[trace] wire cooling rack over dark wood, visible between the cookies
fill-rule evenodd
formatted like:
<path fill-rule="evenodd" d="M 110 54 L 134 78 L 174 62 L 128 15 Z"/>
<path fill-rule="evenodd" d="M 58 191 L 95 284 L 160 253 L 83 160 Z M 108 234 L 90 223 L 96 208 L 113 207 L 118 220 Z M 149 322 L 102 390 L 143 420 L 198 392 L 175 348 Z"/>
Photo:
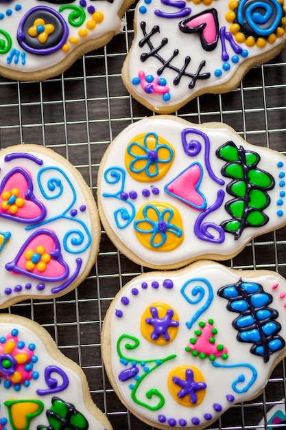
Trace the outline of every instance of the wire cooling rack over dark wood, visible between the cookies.
<path fill-rule="evenodd" d="M 0 78 L 1 148 L 23 142 L 53 148 L 80 170 L 96 196 L 98 166 L 112 138 L 130 122 L 152 115 L 128 95 L 121 81 L 121 66 L 133 38 L 133 15 L 130 8 L 124 32 L 106 47 L 78 59 L 62 76 L 44 82 Z M 254 67 L 235 91 L 203 95 L 175 115 L 194 123 L 226 122 L 248 142 L 285 153 L 285 100 L 284 50 L 270 63 Z M 224 264 L 270 269 L 286 276 L 286 227 L 253 240 Z M 5 310 L 36 320 L 60 350 L 80 364 L 93 400 L 115 430 L 150 429 L 115 396 L 100 352 L 102 321 L 112 297 L 144 270 L 122 256 L 102 231 L 97 262 L 82 286 L 59 299 L 27 300 Z M 209 428 L 266 429 L 266 424 L 258 427 L 258 423 L 263 418 L 267 422 L 267 411 L 274 405 L 285 408 L 285 377 L 283 361 L 261 396 L 235 405 Z"/>

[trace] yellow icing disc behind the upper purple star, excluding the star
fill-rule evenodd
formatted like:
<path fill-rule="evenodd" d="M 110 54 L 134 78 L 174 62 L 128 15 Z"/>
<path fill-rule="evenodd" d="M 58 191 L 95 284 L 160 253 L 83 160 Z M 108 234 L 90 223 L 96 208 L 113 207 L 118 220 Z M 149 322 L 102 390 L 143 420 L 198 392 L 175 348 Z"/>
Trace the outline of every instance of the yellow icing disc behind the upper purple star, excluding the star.
<path fill-rule="evenodd" d="M 141 333 L 147 339 L 147 341 L 150 341 L 151 343 L 155 343 L 159 346 L 165 346 L 168 343 L 171 343 L 171 341 L 174 341 L 179 326 L 169 326 L 167 328 L 167 337 L 169 337 L 169 340 L 165 340 L 163 337 L 163 334 L 158 336 L 158 339 L 152 339 L 152 333 L 154 332 L 154 325 L 153 324 L 147 324 L 146 319 L 152 319 L 152 313 L 150 308 L 156 308 L 158 312 L 158 318 L 163 319 L 166 317 L 167 310 L 171 309 L 174 312 L 174 315 L 169 319 L 169 321 L 178 321 L 179 317 L 176 313 L 176 310 L 169 306 L 169 304 L 165 303 L 152 303 L 150 304 L 143 312 L 141 317 Z M 165 336 L 166 337 L 166 336 Z"/>

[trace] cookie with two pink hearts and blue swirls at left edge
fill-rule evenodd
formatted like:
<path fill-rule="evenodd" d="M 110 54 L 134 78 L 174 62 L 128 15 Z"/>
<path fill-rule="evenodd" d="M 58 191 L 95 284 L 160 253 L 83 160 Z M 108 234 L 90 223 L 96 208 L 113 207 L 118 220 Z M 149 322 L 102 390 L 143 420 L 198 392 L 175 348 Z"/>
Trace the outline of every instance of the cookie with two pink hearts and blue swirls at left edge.
<path fill-rule="evenodd" d="M 58 297 L 91 271 L 100 238 L 93 194 L 66 159 L 37 145 L 0 152 L 0 308 Z"/>

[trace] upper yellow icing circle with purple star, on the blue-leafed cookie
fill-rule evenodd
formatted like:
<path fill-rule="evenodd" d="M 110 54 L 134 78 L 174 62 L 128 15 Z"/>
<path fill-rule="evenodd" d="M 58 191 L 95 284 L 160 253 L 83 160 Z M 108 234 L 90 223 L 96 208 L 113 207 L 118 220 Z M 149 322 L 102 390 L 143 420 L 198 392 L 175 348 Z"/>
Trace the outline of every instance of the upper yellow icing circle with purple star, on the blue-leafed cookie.
<path fill-rule="evenodd" d="M 151 343 L 165 346 L 174 341 L 179 328 L 176 310 L 165 303 L 152 303 L 141 317 L 141 333 Z"/>

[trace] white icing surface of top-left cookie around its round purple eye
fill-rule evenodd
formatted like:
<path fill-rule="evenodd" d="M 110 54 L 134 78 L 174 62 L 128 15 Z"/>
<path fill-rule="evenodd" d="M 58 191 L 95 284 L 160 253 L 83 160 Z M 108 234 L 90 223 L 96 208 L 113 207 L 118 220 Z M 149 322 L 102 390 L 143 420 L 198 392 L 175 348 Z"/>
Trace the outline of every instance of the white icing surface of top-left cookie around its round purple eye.
<path fill-rule="evenodd" d="M 61 6 L 64 7 L 64 10 L 59 12 Z M 86 23 L 88 23 L 88 21 L 92 21 L 92 14 L 88 12 L 89 6 L 94 7 L 96 12 L 102 12 L 104 15 L 102 22 L 96 23 L 93 29 L 88 29 L 86 27 Z M 62 39 L 61 43 L 65 43 L 69 46 L 69 50 L 67 52 L 64 52 L 62 47 L 59 47 L 58 49 L 55 49 L 54 52 L 47 54 L 40 54 L 40 51 L 36 53 L 28 52 L 28 50 L 21 46 L 17 40 L 17 32 L 19 31 L 19 25 L 23 19 L 23 16 L 29 13 L 33 8 L 40 7 L 54 10 L 57 13 L 60 13 L 62 16 L 63 21 L 68 27 L 68 32 L 67 38 Z M 21 9 L 17 10 L 17 8 Z M 76 15 L 78 12 L 74 11 L 73 8 L 80 8 L 86 14 L 86 18 L 81 25 L 74 26 L 69 23 L 69 15 L 72 13 L 75 13 L 75 23 L 80 21 L 80 16 Z M 110 3 L 106 0 L 87 0 L 84 7 L 80 5 L 80 0 L 62 4 L 53 4 L 38 0 L 1 1 L 0 14 L 3 15 L 3 19 L 0 21 L 1 30 L 3 32 L 7 32 L 11 38 L 11 48 L 8 49 L 7 52 L 0 55 L 1 72 L 5 76 L 9 76 L 9 73 L 12 74 L 12 76 L 16 76 L 14 73 L 21 73 L 21 77 L 23 79 L 26 78 L 27 80 L 36 78 L 42 79 L 42 72 L 45 73 L 45 78 L 56 75 L 57 69 L 53 69 L 53 71 L 49 72 L 47 72 L 45 69 L 58 65 L 58 70 L 62 71 L 62 66 L 59 65 L 59 63 L 68 60 L 68 63 L 66 63 L 67 65 L 64 67 L 67 68 L 71 64 L 71 60 L 68 59 L 69 54 L 75 55 L 75 58 L 73 57 L 73 60 L 75 60 L 83 52 L 88 52 L 92 49 L 95 49 L 95 47 L 105 45 L 114 34 L 118 34 L 122 27 L 121 16 L 118 14 L 123 14 L 124 10 L 127 8 L 128 4 L 126 7 L 123 7 L 123 0 L 115 0 L 113 3 Z M 41 11 L 39 9 L 38 17 L 40 17 L 40 14 Z M 49 24 L 49 22 L 46 24 Z M 86 31 L 86 34 L 84 36 L 80 36 L 78 33 L 80 30 Z M 3 41 L 5 41 L 5 47 L 7 47 L 7 37 L 3 36 L 3 34 L 1 36 Z M 42 44 L 41 47 L 43 47 L 43 49 L 45 49 L 45 45 L 47 45 L 49 42 L 49 37 L 51 36 L 48 36 L 47 42 Z M 105 37 L 107 37 L 107 39 Z M 37 37 L 35 36 L 34 38 Z M 102 41 L 97 41 L 97 39 L 100 38 L 102 38 Z M 84 43 L 87 44 L 87 47 L 82 48 Z M 91 43 L 93 43 L 93 45 Z M 74 52 L 76 54 L 74 54 Z M 23 64 L 23 58 L 25 64 Z M 34 73 L 34 76 L 31 75 L 31 73 Z"/>

